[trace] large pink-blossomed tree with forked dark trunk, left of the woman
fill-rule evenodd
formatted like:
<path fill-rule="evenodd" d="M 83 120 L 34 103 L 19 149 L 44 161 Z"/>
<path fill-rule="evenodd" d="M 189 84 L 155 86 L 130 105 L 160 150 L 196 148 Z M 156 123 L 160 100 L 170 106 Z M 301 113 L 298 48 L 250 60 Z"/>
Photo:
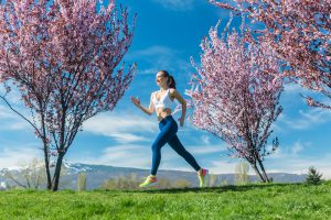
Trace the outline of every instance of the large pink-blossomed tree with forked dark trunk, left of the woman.
<path fill-rule="evenodd" d="M 0 4 L 0 80 L 7 91 L 1 98 L 41 139 L 47 189 L 57 190 L 63 157 L 82 123 L 114 110 L 135 77 L 136 64 L 127 70 L 119 65 L 134 26 L 127 9 L 116 10 L 114 0 L 107 6 L 98 0 Z M 10 103 L 12 88 L 31 116 Z"/>

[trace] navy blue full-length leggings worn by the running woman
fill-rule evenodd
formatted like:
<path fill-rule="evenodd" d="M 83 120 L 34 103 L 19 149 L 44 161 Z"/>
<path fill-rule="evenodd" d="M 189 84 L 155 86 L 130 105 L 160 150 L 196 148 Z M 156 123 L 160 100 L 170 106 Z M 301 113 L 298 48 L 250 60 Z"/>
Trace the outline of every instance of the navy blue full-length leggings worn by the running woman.
<path fill-rule="evenodd" d="M 160 133 L 152 144 L 152 168 L 151 175 L 157 175 L 160 161 L 161 147 L 168 143 L 179 155 L 181 155 L 196 172 L 201 168 L 195 158 L 184 148 L 177 136 L 178 124 L 171 116 L 166 117 L 159 123 Z"/>

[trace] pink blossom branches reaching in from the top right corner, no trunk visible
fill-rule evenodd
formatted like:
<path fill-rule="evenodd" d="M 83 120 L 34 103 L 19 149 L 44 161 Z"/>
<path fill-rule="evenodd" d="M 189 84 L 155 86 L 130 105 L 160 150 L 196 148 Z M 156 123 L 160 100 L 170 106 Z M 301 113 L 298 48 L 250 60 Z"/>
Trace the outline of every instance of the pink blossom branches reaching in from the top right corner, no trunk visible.
<path fill-rule="evenodd" d="M 258 37 L 282 59 L 285 79 L 316 91 L 306 97 L 312 107 L 331 109 L 331 0 L 209 0 L 222 8 L 261 22 Z M 318 100 L 319 99 L 319 100 Z"/>

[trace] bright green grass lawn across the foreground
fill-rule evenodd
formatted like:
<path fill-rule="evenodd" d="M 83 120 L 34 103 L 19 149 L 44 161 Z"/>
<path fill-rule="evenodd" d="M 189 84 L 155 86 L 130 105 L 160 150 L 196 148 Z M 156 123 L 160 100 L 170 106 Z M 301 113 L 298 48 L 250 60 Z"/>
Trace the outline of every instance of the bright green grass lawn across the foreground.
<path fill-rule="evenodd" d="M 331 182 L 215 188 L 0 191 L 0 219 L 331 219 Z"/>

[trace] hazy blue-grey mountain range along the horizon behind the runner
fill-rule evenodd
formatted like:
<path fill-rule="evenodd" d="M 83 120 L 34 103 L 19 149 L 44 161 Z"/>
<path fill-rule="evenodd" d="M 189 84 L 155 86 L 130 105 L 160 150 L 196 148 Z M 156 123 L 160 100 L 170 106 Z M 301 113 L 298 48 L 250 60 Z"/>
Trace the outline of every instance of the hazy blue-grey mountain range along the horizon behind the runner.
<path fill-rule="evenodd" d="M 76 189 L 77 187 L 77 174 L 86 173 L 87 176 L 87 189 L 99 188 L 105 180 L 110 178 L 118 178 L 120 176 L 129 176 L 135 174 L 137 179 L 143 179 L 149 175 L 148 169 L 131 168 L 131 167 L 116 167 L 108 165 L 94 165 L 94 164 L 81 164 L 64 162 L 66 174 L 61 177 L 60 188 Z M 19 169 L 11 169 L 12 173 L 19 172 Z M 11 180 L 8 180 L 3 176 L 4 169 L 0 169 L 0 188 L 4 185 L 12 185 Z M 235 183 L 235 174 L 214 174 L 216 175 L 215 185 L 221 183 L 227 183 L 233 185 Z M 301 183 L 305 182 L 306 175 L 287 174 L 287 173 L 270 173 L 269 177 L 274 179 L 274 183 Z M 185 179 L 192 184 L 192 187 L 197 187 L 197 177 L 195 172 L 181 172 L 181 170 L 158 170 L 158 178 L 167 178 L 171 182 L 179 179 Z M 255 175 L 249 175 L 249 182 L 258 182 Z"/>

